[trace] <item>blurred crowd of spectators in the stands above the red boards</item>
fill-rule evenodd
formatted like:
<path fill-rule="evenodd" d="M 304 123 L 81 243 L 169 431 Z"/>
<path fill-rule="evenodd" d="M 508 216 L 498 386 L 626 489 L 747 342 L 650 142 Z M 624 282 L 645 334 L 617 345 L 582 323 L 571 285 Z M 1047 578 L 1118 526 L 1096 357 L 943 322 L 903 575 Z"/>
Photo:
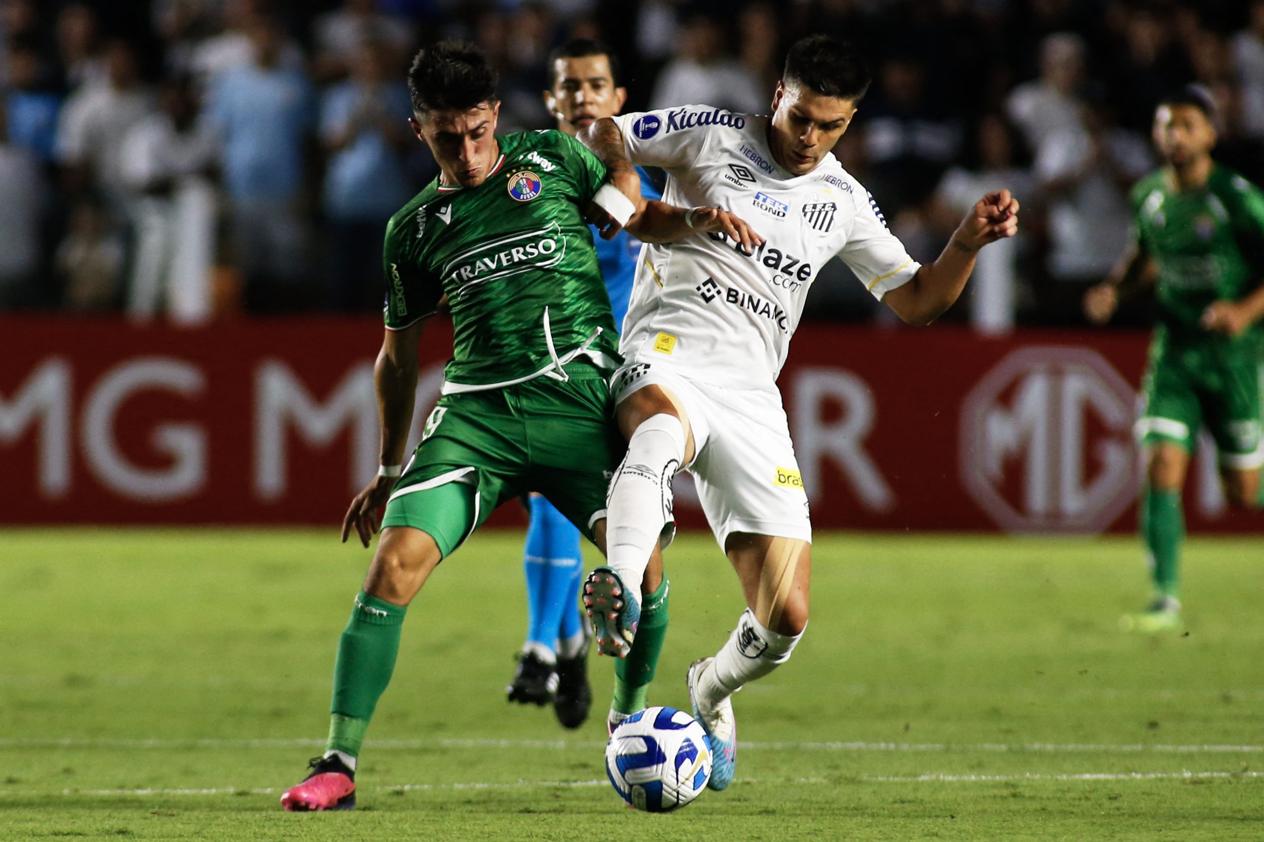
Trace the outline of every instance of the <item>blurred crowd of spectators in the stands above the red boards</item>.
<path fill-rule="evenodd" d="M 1023 200 L 949 316 L 982 331 L 1083 324 L 1169 90 L 1205 85 L 1217 157 L 1264 181 L 1264 0 L 0 0 L 0 310 L 374 311 L 384 224 L 437 173 L 407 124 L 418 47 L 487 49 L 509 131 L 555 125 L 569 38 L 611 44 L 628 110 L 767 113 L 810 33 L 870 53 L 834 152 L 914 257 L 983 192 Z M 806 316 L 889 317 L 837 260 Z"/>

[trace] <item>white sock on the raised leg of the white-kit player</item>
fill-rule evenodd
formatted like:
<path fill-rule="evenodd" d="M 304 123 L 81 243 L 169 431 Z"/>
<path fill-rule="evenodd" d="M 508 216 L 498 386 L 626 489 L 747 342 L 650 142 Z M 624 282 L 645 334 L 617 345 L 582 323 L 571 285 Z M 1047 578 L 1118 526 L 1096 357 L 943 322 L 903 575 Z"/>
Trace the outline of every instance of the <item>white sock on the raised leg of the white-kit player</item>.
<path fill-rule="evenodd" d="M 605 563 L 641 598 L 650 554 L 671 516 L 671 478 L 685 460 L 685 429 L 666 412 L 641 422 L 611 479 L 605 512 Z"/>

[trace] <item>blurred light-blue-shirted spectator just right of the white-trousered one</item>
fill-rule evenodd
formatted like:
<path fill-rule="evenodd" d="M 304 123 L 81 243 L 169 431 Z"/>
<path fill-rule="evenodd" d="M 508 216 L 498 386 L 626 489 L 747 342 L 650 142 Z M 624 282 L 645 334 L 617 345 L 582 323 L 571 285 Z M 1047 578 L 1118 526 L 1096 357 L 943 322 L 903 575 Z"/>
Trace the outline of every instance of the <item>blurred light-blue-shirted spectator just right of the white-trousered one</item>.
<path fill-rule="evenodd" d="M 297 303 L 293 284 L 307 273 L 305 147 L 311 128 L 307 78 L 284 64 L 286 35 L 267 16 L 252 18 L 250 63 L 224 71 L 210 92 L 207 119 L 222 142 L 221 168 L 246 307 Z"/>

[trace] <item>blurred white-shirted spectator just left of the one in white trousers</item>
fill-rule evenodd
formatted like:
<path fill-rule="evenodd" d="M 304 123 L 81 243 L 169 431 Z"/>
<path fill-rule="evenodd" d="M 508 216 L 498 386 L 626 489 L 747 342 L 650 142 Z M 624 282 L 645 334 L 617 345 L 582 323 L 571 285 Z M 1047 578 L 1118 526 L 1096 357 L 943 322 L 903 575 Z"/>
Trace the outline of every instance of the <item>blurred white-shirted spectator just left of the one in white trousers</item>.
<path fill-rule="evenodd" d="M 99 188 L 111 212 L 123 220 L 126 197 L 119 171 L 119 147 L 152 104 L 140 85 L 130 44 L 111 40 L 105 59 L 106 81 L 83 85 L 66 101 L 57 128 L 56 154 L 72 190 Z"/>

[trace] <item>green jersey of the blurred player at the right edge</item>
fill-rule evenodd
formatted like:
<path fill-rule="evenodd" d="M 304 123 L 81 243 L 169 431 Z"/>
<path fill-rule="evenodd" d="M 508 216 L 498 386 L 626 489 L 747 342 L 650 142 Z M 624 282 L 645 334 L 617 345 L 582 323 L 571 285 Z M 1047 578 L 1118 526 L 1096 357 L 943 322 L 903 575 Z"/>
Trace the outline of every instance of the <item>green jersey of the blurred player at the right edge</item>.
<path fill-rule="evenodd" d="M 1215 164 L 1206 187 L 1191 191 L 1153 172 L 1131 201 L 1138 241 L 1158 265 L 1160 339 L 1210 338 L 1198 325 L 1207 305 L 1243 298 L 1260 283 L 1264 192 Z"/>

